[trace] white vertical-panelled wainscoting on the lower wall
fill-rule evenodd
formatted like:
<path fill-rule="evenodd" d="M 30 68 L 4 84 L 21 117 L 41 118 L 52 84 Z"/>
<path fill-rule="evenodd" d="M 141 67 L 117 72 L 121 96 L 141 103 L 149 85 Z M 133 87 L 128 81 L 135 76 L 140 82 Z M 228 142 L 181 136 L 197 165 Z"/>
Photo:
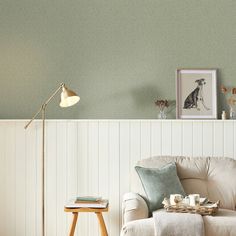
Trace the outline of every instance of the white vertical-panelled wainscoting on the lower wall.
<path fill-rule="evenodd" d="M 40 236 L 41 125 L 0 121 L 0 235 Z M 155 155 L 236 157 L 235 121 L 49 120 L 46 140 L 47 236 L 68 234 L 65 202 L 77 195 L 110 200 L 110 236 L 121 227 L 122 195 L 132 170 Z M 93 214 L 79 216 L 77 233 L 98 236 Z"/>

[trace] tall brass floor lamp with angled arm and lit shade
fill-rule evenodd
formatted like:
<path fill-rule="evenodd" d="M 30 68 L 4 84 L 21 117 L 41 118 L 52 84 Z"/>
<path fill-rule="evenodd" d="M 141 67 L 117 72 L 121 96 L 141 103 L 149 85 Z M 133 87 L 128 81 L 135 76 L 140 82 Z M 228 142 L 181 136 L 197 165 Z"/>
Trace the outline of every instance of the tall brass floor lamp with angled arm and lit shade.
<path fill-rule="evenodd" d="M 45 186 L 44 186 L 44 180 L 45 180 L 45 171 L 44 171 L 44 165 L 45 165 L 45 114 L 46 114 L 46 107 L 48 103 L 57 95 L 59 91 L 61 92 L 61 107 L 70 107 L 75 105 L 77 102 L 79 102 L 80 97 L 73 91 L 66 88 L 64 83 L 61 83 L 59 88 L 55 90 L 55 92 L 42 104 L 40 109 L 36 112 L 36 114 L 33 116 L 33 118 L 26 124 L 25 129 L 28 128 L 28 126 L 31 124 L 31 122 L 39 115 L 39 113 L 42 113 L 42 236 L 46 235 L 45 232 Z"/>

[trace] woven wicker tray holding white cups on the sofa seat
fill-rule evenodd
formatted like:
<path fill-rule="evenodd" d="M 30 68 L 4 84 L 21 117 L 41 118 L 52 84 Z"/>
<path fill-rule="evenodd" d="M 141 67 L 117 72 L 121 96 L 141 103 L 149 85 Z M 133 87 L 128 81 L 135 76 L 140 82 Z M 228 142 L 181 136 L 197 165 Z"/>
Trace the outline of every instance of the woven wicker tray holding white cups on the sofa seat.
<path fill-rule="evenodd" d="M 192 214 L 200 214 L 200 215 L 216 215 L 220 201 L 217 202 L 210 202 L 208 201 L 205 205 L 200 206 L 189 206 L 185 204 L 178 204 L 178 205 L 170 205 L 168 204 L 168 199 L 164 199 L 163 205 L 167 212 L 176 212 L 176 213 L 192 213 Z"/>

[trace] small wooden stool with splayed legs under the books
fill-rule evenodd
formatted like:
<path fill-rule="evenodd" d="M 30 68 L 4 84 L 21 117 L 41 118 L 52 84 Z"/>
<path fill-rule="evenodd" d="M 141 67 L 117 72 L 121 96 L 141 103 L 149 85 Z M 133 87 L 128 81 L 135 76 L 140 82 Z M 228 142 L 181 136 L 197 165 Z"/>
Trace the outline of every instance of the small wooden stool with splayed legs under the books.
<path fill-rule="evenodd" d="M 94 212 L 98 218 L 101 236 L 108 236 L 106 225 L 102 216 L 102 212 L 108 212 L 108 207 L 106 208 L 67 208 L 65 207 L 64 211 L 71 212 L 73 214 L 73 221 L 70 227 L 69 236 L 74 236 L 79 212 Z"/>

